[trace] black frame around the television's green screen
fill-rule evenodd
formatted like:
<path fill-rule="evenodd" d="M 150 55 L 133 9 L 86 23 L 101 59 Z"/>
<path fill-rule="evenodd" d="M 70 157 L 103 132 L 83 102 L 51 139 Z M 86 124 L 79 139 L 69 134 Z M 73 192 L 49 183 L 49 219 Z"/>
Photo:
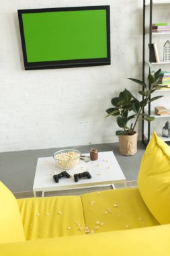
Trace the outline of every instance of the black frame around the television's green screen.
<path fill-rule="evenodd" d="M 26 42 L 24 38 L 24 26 L 22 21 L 22 13 L 40 13 L 50 11 L 81 11 L 81 10 L 93 10 L 93 9 L 105 9 L 106 10 L 106 24 L 107 24 L 107 56 L 106 58 L 97 59 L 73 59 L 65 61 L 41 61 L 28 63 L 26 55 Z M 87 67 L 97 65 L 110 65 L 110 5 L 99 6 L 82 6 L 82 7 L 58 7 L 58 8 L 43 8 L 43 9 L 19 9 L 17 10 L 19 19 L 19 29 L 22 39 L 22 51 L 24 56 L 24 67 L 26 70 L 31 69 L 55 69 L 64 67 Z"/>

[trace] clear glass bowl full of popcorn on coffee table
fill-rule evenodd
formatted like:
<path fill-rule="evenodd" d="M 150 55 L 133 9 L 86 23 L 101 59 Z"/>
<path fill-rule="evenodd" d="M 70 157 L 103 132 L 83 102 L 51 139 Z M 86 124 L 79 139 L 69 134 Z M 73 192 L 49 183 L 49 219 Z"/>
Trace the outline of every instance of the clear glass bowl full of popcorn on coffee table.
<path fill-rule="evenodd" d="M 79 150 L 59 150 L 54 153 L 53 157 L 58 167 L 69 170 L 77 166 L 81 152 Z"/>

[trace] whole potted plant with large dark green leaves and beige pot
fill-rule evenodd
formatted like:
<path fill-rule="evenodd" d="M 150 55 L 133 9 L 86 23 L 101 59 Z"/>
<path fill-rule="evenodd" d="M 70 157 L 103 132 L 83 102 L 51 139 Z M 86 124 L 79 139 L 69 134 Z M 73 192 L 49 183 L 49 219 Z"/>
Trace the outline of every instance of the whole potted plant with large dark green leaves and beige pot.
<path fill-rule="evenodd" d="M 138 91 L 138 94 L 142 96 L 142 100 L 138 100 L 129 90 L 124 89 L 120 92 L 118 97 L 114 97 L 111 103 L 114 107 L 108 108 L 106 112 L 110 116 L 117 117 L 117 124 L 120 128 L 116 131 L 116 135 L 119 138 L 120 154 L 126 156 L 132 156 L 137 152 L 137 137 L 138 133 L 135 131 L 136 124 L 139 120 L 146 120 L 148 122 L 153 121 L 155 118 L 143 113 L 144 107 L 154 100 L 157 100 L 163 96 L 156 96 L 151 98 L 151 94 L 157 90 L 159 86 L 159 77 L 161 77 L 161 69 L 154 71 L 151 63 L 149 63 L 148 85 L 144 82 L 128 78 L 140 84 L 142 90 Z M 133 121 L 128 125 L 129 121 Z"/>

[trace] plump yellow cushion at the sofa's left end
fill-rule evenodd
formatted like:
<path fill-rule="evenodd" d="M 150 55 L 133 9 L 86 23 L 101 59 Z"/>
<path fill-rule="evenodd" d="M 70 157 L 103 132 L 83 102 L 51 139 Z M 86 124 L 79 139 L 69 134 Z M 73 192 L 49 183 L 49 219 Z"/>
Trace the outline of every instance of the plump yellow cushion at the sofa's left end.
<path fill-rule="evenodd" d="M 0 181 L 0 243 L 25 241 L 17 200 Z"/>

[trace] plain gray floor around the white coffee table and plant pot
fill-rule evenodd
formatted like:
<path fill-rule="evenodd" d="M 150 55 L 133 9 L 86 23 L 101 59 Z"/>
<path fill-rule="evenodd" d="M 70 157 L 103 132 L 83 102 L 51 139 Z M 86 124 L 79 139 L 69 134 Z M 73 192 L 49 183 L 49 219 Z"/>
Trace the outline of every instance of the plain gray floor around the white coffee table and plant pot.
<path fill-rule="evenodd" d="M 138 152 L 134 156 L 122 156 L 119 154 L 118 143 L 106 143 L 73 147 L 81 153 L 87 153 L 91 148 L 97 148 L 99 152 L 113 151 L 127 181 L 135 181 L 138 177 L 140 161 L 145 147 L 138 141 Z M 32 191 L 37 159 L 52 156 L 61 148 L 47 150 L 28 150 L 20 152 L 0 153 L 0 180 L 13 192 Z"/>

